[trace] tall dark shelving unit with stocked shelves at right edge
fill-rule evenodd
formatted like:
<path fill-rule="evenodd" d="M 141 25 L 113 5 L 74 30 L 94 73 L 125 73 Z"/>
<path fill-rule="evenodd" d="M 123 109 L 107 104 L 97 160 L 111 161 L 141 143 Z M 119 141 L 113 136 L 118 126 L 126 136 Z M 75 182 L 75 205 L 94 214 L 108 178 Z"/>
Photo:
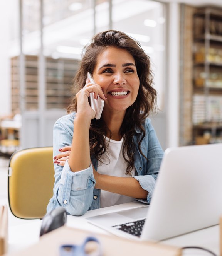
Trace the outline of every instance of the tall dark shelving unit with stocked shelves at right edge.
<path fill-rule="evenodd" d="M 193 15 L 193 142 L 222 142 L 222 10 Z"/>

